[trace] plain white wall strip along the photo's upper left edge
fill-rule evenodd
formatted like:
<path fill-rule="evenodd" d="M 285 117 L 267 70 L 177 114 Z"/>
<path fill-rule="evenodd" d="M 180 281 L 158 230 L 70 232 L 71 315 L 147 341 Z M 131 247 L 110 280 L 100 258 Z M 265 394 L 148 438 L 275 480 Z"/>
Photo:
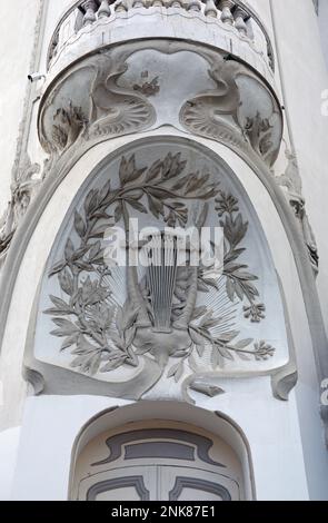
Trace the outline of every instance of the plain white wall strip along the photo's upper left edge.
<path fill-rule="evenodd" d="M 39 0 L 1 2 L 0 216 L 10 198 L 11 169 L 28 82 Z"/>

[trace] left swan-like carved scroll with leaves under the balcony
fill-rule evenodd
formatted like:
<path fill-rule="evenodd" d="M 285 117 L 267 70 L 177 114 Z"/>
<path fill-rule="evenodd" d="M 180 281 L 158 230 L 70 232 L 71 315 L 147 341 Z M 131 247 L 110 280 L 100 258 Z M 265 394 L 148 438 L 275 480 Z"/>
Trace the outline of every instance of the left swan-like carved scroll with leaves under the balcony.
<path fill-rule="evenodd" d="M 87 58 L 70 68 L 43 95 L 39 137 L 51 158 L 62 156 L 72 146 L 81 148 L 86 141 L 138 132 L 155 124 L 156 112 L 147 100 L 149 87 L 143 93 L 145 86 L 136 89 L 136 86 L 118 85 L 128 70 L 127 58 L 138 50 L 136 46 L 127 46 L 128 50 L 123 46 Z M 86 95 L 82 93 L 82 107 L 73 101 L 80 82 L 88 86 Z M 63 90 L 71 91 L 71 96 L 63 99 Z"/>

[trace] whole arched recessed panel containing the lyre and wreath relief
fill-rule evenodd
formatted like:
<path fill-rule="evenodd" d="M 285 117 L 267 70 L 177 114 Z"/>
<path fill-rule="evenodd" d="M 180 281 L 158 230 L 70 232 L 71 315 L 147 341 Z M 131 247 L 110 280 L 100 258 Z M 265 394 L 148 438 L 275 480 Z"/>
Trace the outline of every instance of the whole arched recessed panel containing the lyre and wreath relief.
<path fill-rule="evenodd" d="M 130 256 L 157 264 L 108 266 L 112 227 L 129 218 L 157 228 Z M 225 231 L 219 274 L 190 263 L 193 240 L 180 266 L 172 229 L 192 226 Z M 190 389 L 221 393 L 213 377 L 258 375 L 276 386 L 291 375 L 291 388 L 285 316 L 267 240 L 235 175 L 196 144 L 150 139 L 111 155 L 77 194 L 40 283 L 26 365 L 48 394 L 190 401 Z"/>

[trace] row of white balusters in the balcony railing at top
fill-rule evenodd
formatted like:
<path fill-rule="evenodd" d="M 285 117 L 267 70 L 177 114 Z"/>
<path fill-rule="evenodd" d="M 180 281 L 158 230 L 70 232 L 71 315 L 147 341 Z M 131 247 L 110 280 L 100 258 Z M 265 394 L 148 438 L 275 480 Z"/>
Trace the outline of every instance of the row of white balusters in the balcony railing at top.
<path fill-rule="evenodd" d="M 206 21 L 217 20 L 217 29 L 229 27 L 241 40 L 248 41 L 275 71 L 275 59 L 270 38 L 257 14 L 240 0 L 83 0 L 76 2 L 58 23 L 50 42 L 48 70 L 56 57 L 72 37 L 99 20 L 129 17 L 130 11 L 147 9 L 173 13 L 185 11 L 187 17 L 200 17 Z M 138 36 L 138 34 L 137 34 Z"/>

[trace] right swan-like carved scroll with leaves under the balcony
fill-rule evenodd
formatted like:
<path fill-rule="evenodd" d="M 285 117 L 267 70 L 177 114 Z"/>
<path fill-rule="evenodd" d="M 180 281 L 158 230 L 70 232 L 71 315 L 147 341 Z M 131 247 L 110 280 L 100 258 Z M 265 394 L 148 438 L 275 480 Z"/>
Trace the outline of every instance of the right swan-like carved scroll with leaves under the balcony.
<path fill-rule="evenodd" d="M 181 125 L 191 134 L 232 144 L 250 155 L 255 151 L 266 165 L 272 166 L 278 157 L 282 138 L 281 109 L 274 95 L 270 95 L 267 86 L 232 57 L 222 57 L 218 53 L 209 75 L 217 83 L 217 89 L 199 93 L 188 100 L 180 111 Z M 249 81 L 249 91 L 252 90 L 251 96 L 255 99 L 266 92 L 270 98 L 267 107 L 248 114 L 248 103 L 242 99 L 242 88 L 238 83 L 238 78 Z"/>

